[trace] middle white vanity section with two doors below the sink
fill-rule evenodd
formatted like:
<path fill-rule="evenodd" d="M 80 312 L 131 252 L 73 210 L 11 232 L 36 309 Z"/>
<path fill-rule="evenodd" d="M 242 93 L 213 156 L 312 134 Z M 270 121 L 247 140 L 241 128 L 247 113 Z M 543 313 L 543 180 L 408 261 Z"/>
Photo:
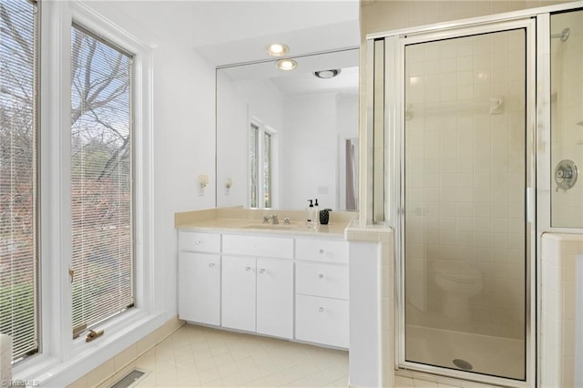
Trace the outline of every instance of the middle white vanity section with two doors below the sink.
<path fill-rule="evenodd" d="M 224 235 L 222 251 L 222 326 L 292 339 L 293 239 Z"/>

